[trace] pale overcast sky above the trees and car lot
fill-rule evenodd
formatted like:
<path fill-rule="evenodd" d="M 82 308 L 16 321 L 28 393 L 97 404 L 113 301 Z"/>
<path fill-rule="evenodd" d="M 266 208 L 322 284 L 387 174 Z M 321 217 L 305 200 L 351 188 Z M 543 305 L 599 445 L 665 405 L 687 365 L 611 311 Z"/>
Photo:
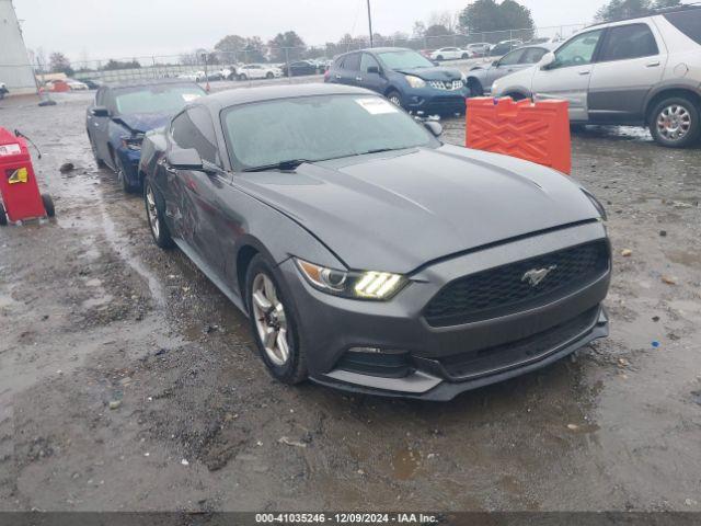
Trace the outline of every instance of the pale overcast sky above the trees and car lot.
<path fill-rule="evenodd" d="M 366 0 L 14 0 L 28 48 L 61 50 L 71 59 L 177 55 L 211 48 L 227 34 L 265 42 L 294 30 L 307 44 L 364 34 Z M 374 28 L 410 33 L 432 12 L 469 0 L 372 0 Z M 590 22 L 605 0 L 521 0 L 538 26 Z"/>

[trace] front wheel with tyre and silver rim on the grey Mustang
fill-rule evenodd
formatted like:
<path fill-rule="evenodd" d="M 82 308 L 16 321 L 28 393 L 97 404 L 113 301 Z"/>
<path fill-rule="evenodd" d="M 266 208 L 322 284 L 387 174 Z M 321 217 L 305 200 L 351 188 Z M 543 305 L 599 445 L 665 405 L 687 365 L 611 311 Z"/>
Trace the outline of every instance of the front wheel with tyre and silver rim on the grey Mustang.
<path fill-rule="evenodd" d="M 260 254 L 251 261 L 245 289 L 251 328 L 268 371 L 284 384 L 304 381 L 307 361 L 299 345 L 297 316 L 273 266 Z"/>

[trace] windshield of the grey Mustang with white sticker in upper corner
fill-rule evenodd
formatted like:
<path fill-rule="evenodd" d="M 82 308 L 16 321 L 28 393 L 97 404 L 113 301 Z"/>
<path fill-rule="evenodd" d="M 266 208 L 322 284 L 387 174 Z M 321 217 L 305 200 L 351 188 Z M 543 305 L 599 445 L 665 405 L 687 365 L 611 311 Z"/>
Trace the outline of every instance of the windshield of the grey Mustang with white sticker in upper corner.
<path fill-rule="evenodd" d="M 317 95 L 232 106 L 222 126 L 237 169 L 309 162 L 439 142 L 376 95 Z"/>

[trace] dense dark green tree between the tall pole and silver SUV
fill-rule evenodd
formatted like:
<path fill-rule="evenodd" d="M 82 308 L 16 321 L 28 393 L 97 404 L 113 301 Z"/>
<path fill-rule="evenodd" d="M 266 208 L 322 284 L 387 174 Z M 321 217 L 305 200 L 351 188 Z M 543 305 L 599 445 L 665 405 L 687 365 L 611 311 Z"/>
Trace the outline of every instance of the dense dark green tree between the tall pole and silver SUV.
<path fill-rule="evenodd" d="M 521 30 L 514 37 L 529 38 L 533 34 L 533 18 L 525 5 L 515 0 L 476 0 L 462 10 L 459 15 L 460 28 L 464 33 L 490 33 L 489 41 L 504 39 L 507 31 Z M 496 32 L 501 32 L 496 33 Z"/>

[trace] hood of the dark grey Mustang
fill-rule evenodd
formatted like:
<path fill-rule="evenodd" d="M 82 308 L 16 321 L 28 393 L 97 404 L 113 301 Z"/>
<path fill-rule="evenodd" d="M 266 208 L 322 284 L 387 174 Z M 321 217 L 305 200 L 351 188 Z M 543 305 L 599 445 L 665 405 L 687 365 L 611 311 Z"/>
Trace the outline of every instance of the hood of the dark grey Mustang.
<path fill-rule="evenodd" d="M 565 175 L 453 146 L 237 179 L 353 270 L 405 274 L 446 255 L 598 217 Z"/>

